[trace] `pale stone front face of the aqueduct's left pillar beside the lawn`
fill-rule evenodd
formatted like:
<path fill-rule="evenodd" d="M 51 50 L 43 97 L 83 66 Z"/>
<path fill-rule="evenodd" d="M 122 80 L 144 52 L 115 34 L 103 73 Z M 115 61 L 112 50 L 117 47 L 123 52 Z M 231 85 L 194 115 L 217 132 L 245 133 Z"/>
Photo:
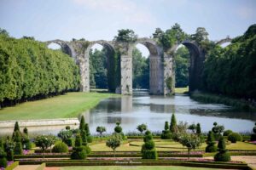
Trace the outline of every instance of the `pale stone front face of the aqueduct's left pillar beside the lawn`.
<path fill-rule="evenodd" d="M 90 92 L 90 66 L 89 66 L 89 56 L 79 57 L 79 69 L 81 75 L 80 91 Z"/>

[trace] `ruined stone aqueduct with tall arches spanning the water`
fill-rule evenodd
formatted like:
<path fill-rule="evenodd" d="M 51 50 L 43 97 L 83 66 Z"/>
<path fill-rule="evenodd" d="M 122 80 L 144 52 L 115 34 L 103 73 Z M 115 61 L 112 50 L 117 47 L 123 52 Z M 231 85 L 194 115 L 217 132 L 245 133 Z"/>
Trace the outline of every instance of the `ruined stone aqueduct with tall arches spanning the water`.
<path fill-rule="evenodd" d="M 216 43 L 230 42 L 230 37 L 224 38 Z M 175 71 L 174 52 L 177 46 L 183 44 L 189 49 L 189 92 L 201 89 L 202 70 L 205 60 L 205 52 L 196 42 L 185 40 L 177 43 L 172 48 L 164 49 L 151 38 L 137 38 L 136 42 L 116 41 L 71 41 L 53 40 L 46 42 L 56 43 L 61 46 L 64 53 L 70 55 L 74 62 L 79 65 L 81 82 L 80 90 L 90 92 L 90 48 L 95 44 L 102 45 L 107 50 L 108 69 L 112 67 L 110 56 L 113 56 L 117 49 L 120 55 L 120 84 L 115 89 L 118 94 L 132 94 L 132 50 L 138 43 L 143 44 L 149 51 L 149 94 L 166 95 L 174 93 Z M 117 73 L 115 73 L 117 74 Z M 171 80 L 171 82 L 168 80 Z M 168 85 L 168 83 L 171 85 Z"/>

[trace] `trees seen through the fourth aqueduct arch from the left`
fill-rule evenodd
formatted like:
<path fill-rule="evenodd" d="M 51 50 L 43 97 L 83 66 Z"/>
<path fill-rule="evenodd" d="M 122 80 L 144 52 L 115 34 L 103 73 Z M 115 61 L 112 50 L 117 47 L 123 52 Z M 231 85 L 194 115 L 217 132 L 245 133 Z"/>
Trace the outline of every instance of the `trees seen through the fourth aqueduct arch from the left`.
<path fill-rule="evenodd" d="M 185 47 L 177 48 L 175 52 L 175 87 L 189 86 L 189 50 Z"/>

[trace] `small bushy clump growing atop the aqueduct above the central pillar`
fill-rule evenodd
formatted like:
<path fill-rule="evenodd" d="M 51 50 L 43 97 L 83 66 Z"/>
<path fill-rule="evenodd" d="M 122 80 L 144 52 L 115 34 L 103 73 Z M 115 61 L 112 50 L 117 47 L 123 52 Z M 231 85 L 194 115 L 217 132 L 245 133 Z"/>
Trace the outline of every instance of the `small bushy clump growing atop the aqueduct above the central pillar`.
<path fill-rule="evenodd" d="M 114 37 L 117 42 L 136 42 L 137 35 L 130 29 L 122 29 L 118 31 L 118 36 Z"/>

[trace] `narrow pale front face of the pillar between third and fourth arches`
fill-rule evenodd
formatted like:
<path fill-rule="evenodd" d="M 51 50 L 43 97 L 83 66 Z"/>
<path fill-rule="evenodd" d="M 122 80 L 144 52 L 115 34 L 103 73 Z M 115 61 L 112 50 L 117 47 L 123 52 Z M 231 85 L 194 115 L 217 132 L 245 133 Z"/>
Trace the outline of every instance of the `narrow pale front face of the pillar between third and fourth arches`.
<path fill-rule="evenodd" d="M 172 78 L 172 87 L 168 87 L 166 81 Z M 164 54 L 164 95 L 174 94 L 175 89 L 175 71 L 174 71 L 174 58 L 171 55 Z"/>

